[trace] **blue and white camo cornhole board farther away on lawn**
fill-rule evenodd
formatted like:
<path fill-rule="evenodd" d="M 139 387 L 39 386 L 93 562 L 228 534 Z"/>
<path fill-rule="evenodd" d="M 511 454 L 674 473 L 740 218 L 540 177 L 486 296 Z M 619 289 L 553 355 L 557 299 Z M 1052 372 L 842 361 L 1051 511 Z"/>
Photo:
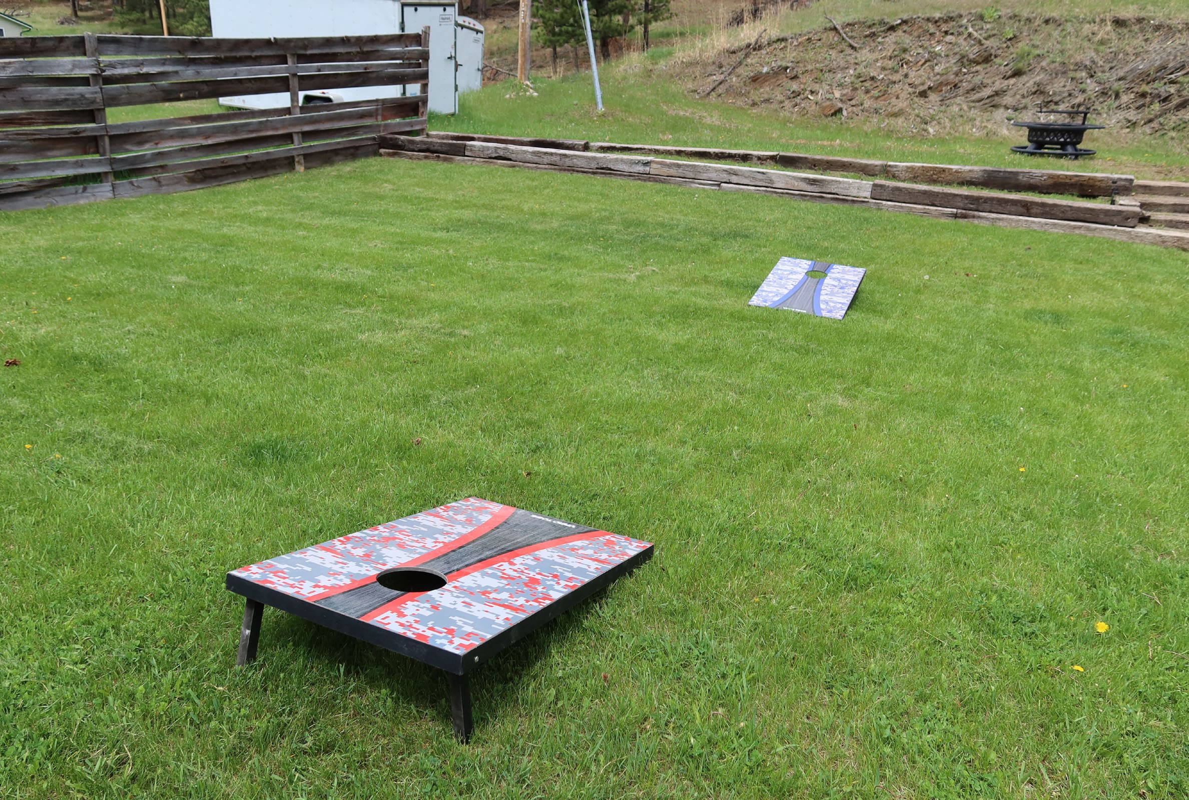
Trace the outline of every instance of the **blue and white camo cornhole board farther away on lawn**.
<path fill-rule="evenodd" d="M 810 277 L 809 272 L 825 272 Z M 782 258 L 756 290 L 748 305 L 785 308 L 814 316 L 841 320 L 858 291 L 867 270 L 805 258 Z"/>

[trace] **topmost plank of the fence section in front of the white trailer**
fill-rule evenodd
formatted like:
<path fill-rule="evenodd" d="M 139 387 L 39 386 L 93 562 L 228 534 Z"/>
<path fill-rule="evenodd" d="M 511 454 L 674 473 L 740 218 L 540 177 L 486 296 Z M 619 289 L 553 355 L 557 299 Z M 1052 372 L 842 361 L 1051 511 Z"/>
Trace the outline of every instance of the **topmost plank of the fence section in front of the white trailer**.
<path fill-rule="evenodd" d="M 288 52 L 316 53 L 404 49 L 416 48 L 420 44 L 421 37 L 416 33 L 275 39 L 191 38 L 183 36 L 99 37 L 100 52 L 103 56 L 284 56 Z M 2 52 L 4 50 L 0 49 L 0 53 Z"/>

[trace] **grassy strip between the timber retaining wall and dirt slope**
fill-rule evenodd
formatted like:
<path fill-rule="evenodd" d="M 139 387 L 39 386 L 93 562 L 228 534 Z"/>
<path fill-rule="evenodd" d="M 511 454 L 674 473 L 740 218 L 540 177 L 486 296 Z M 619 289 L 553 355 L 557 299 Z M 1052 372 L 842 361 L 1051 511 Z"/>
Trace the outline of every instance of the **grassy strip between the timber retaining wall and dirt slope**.
<path fill-rule="evenodd" d="M 435 116 L 435 128 L 549 136 L 602 141 L 672 144 L 755 150 L 787 150 L 856 158 L 1128 172 L 1141 177 L 1189 177 L 1189 151 L 1183 140 L 1102 131 L 1092 145 L 1102 156 L 1078 162 L 1038 162 L 1009 146 L 1024 141 L 983 128 L 979 136 L 919 136 L 902 128 L 853 124 L 843 119 L 789 118 L 776 111 L 741 107 L 716 99 L 700 100 L 674 73 L 672 52 L 654 50 L 633 56 L 603 73 L 606 111 L 594 111 L 589 75 L 534 82 L 535 93 L 515 82 L 463 95 L 457 116 Z"/>

